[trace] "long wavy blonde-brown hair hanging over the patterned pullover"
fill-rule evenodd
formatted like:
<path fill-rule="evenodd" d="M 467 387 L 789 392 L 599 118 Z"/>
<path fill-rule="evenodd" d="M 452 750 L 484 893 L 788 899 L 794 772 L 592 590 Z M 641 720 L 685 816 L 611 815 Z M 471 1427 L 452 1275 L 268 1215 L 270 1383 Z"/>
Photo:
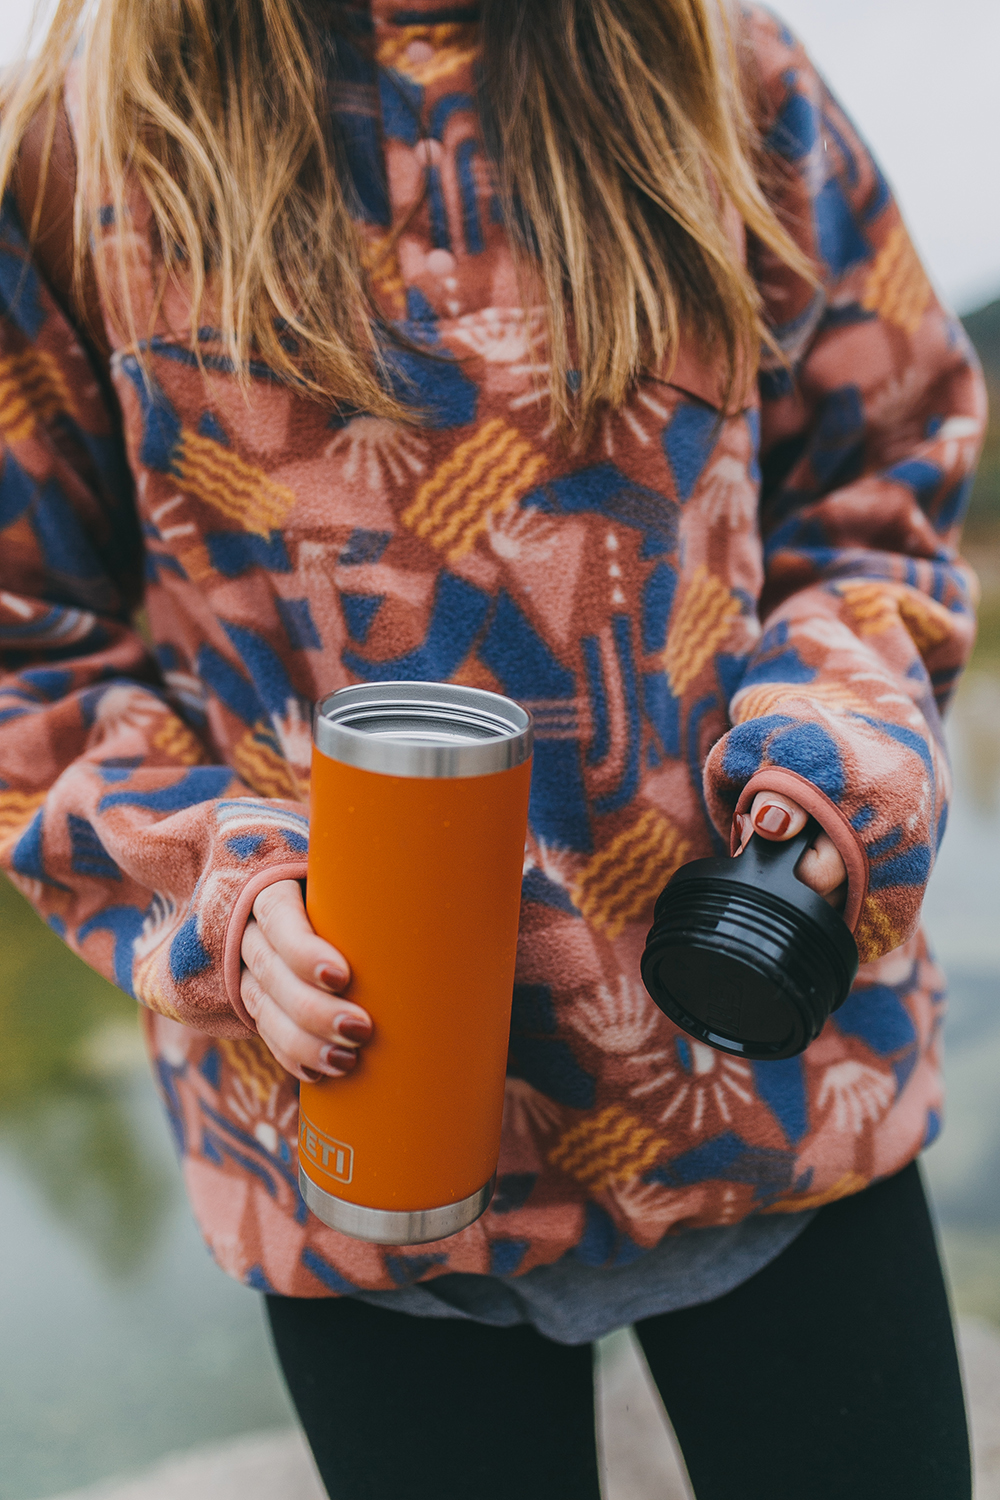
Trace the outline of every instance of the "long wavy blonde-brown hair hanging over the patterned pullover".
<path fill-rule="evenodd" d="M 724 4 L 481 3 L 484 144 L 522 294 L 547 314 L 564 428 L 621 405 L 643 372 L 669 376 L 682 334 L 721 362 L 730 394 L 753 374 L 768 328 L 733 213 L 811 276 L 757 178 Z M 330 111 L 352 15 L 331 0 L 58 0 L 42 45 L 0 90 L 0 184 L 39 120 L 45 172 L 75 57 L 78 296 L 102 207 L 124 216 L 138 188 L 160 285 L 189 298 L 195 351 L 210 308 L 238 374 L 264 360 L 316 399 L 412 420 L 385 380 Z M 127 266 L 112 278 L 94 260 L 105 288 L 127 285 Z M 141 345 L 133 309 L 118 310 Z"/>

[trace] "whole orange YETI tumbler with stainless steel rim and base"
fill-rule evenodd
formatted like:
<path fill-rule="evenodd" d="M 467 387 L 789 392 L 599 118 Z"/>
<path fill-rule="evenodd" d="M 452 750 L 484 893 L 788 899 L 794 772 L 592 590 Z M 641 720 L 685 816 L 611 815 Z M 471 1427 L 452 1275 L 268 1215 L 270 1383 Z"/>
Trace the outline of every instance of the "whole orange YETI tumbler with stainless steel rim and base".
<path fill-rule="evenodd" d="M 357 1239 L 444 1239 L 493 1196 L 531 736 L 510 699 L 439 682 L 316 708 L 309 918 L 375 1035 L 354 1072 L 303 1083 L 298 1180 Z"/>

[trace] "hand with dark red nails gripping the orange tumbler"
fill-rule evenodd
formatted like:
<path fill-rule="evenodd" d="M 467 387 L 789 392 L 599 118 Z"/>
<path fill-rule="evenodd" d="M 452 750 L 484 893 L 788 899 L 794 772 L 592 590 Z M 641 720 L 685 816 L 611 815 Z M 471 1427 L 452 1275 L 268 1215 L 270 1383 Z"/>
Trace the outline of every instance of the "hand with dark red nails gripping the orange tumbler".
<path fill-rule="evenodd" d="M 243 1004 L 282 1068 L 304 1083 L 349 1072 L 372 1036 L 372 1017 L 340 999 L 351 970 L 315 932 L 298 880 L 276 880 L 261 891 L 241 952 Z"/>

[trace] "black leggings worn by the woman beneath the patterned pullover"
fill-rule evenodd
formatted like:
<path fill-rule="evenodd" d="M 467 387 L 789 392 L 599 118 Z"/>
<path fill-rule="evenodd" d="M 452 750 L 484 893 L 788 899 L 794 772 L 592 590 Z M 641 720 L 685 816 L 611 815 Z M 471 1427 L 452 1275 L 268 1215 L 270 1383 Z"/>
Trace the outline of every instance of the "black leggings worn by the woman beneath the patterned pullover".
<path fill-rule="evenodd" d="M 592 1352 L 349 1298 L 267 1299 L 331 1500 L 598 1500 Z M 636 1332 L 697 1500 L 969 1500 L 916 1166 L 831 1203 L 735 1292 Z"/>

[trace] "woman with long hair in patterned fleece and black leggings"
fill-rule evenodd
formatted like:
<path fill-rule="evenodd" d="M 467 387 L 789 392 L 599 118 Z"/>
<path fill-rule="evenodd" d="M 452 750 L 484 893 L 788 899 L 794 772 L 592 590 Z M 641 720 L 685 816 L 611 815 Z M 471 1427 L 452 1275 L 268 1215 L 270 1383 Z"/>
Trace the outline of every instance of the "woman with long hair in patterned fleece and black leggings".
<path fill-rule="evenodd" d="M 145 1006 L 330 1494 L 597 1496 L 636 1323 L 699 1500 L 969 1496 L 916 924 L 984 399 L 877 166 L 756 8 L 87 14 L 4 100 L 1 852 Z M 498 1194 L 409 1252 L 294 1178 L 378 1023 L 301 903 L 309 711 L 390 678 L 537 724 Z M 639 952 L 807 813 L 864 968 L 750 1066 Z"/>

